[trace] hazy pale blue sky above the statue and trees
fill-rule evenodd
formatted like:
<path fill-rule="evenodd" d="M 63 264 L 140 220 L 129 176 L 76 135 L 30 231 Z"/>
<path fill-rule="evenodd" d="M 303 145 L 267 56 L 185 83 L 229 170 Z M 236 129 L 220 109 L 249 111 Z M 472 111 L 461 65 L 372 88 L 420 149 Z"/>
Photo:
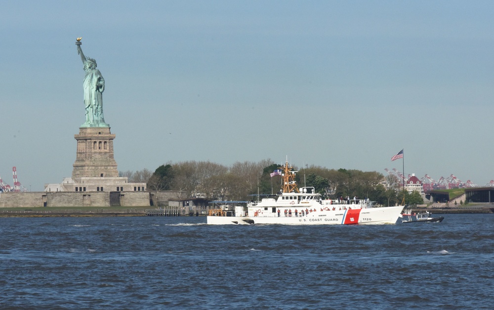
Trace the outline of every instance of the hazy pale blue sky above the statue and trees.
<path fill-rule="evenodd" d="M 120 171 L 295 166 L 494 179 L 494 1 L 25 1 L 0 11 L 0 176 L 72 174 L 97 61 Z M 404 149 L 404 162 L 391 157 Z"/>

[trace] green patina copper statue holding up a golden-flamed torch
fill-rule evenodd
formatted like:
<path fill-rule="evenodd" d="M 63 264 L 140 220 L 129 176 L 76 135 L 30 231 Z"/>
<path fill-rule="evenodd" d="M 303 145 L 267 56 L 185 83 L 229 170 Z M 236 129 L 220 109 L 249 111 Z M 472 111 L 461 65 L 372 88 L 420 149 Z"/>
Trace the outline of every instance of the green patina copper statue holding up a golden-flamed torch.
<path fill-rule="evenodd" d="M 81 127 L 109 127 L 103 117 L 103 91 L 105 90 L 105 80 L 101 72 L 96 69 L 96 60 L 85 57 L 81 49 L 81 39 L 77 38 L 77 53 L 81 55 L 84 64 L 84 107 L 86 111 L 86 121 Z"/>

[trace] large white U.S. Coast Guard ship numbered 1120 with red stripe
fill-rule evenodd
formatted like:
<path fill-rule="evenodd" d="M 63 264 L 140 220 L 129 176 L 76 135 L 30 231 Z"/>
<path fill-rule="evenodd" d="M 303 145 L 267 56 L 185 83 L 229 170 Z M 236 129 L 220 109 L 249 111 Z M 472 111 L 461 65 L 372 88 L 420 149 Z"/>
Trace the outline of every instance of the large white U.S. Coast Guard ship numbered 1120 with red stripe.
<path fill-rule="evenodd" d="M 396 224 L 404 206 L 373 207 L 369 199 L 323 200 L 313 187 L 297 189 L 295 172 L 288 162 L 282 169 L 283 190 L 275 197 L 247 202 L 247 206 L 224 205 L 209 210 L 211 225 L 336 225 Z"/>

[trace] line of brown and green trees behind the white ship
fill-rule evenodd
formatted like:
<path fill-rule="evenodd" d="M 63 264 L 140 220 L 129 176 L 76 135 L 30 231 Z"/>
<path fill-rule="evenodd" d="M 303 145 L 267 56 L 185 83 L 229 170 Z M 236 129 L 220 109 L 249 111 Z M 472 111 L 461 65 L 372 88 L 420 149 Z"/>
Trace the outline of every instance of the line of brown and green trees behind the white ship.
<path fill-rule="evenodd" d="M 235 162 L 231 166 L 210 161 L 167 162 L 154 172 L 121 171 L 129 182 L 146 183 L 148 191 L 179 191 L 182 198 L 204 197 L 210 200 L 246 200 L 249 195 L 276 194 L 282 177 L 270 174 L 282 165 L 271 159 L 259 162 Z M 326 199 L 340 197 L 369 198 L 380 205 L 396 205 L 403 197 L 407 204 L 423 203 L 418 192 L 398 191 L 398 182 L 376 171 L 328 169 L 306 165 L 298 168 L 298 187 L 314 187 Z"/>

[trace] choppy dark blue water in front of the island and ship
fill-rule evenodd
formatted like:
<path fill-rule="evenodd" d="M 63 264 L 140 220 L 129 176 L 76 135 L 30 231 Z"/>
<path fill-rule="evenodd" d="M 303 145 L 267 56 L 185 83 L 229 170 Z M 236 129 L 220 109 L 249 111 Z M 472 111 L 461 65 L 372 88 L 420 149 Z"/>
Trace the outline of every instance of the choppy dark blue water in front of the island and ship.
<path fill-rule="evenodd" d="M 380 226 L 0 218 L 0 308 L 492 309 L 494 214 Z"/>

